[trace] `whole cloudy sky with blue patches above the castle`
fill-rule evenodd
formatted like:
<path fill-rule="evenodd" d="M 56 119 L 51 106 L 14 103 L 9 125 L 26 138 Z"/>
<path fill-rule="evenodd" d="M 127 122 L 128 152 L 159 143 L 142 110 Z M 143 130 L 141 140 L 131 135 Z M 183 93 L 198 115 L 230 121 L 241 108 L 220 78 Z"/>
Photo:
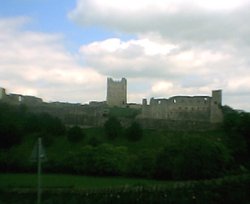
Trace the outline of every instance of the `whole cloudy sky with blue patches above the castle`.
<path fill-rule="evenodd" d="M 250 0 L 0 0 L 0 87 L 46 102 L 221 89 L 250 111 Z"/>

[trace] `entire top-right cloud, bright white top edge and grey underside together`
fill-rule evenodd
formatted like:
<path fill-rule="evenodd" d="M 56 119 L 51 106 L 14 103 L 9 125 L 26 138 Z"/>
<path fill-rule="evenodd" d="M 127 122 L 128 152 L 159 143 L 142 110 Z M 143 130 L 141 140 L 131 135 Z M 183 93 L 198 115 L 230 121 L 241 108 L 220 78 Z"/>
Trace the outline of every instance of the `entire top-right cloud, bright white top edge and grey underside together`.
<path fill-rule="evenodd" d="M 133 34 L 156 32 L 177 42 L 204 43 L 244 37 L 242 30 L 249 33 L 245 26 L 249 5 L 249 0 L 78 0 L 69 17 L 84 26 Z"/>

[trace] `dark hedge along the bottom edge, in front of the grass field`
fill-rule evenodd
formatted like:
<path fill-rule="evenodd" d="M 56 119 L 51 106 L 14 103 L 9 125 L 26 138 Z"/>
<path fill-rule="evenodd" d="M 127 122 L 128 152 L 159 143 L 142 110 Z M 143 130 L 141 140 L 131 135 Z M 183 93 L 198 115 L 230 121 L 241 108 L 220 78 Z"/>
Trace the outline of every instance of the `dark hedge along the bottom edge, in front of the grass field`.
<path fill-rule="evenodd" d="M 13 176 L 13 175 L 12 175 Z M 11 177 L 12 177 L 11 176 Z M 18 175 L 19 177 L 20 175 Z M 55 176 L 48 178 L 56 181 Z M 13 176 L 15 177 L 15 176 Z M 23 177 L 23 176 L 22 176 Z M 67 182 L 67 177 L 59 183 Z M 75 177 L 71 178 L 74 180 Z M 91 181 L 84 177 L 84 180 Z M 99 178 L 100 179 L 100 178 Z M 98 183 L 99 179 L 94 179 Z M 78 180 L 78 179 L 77 179 Z M 77 183 L 77 180 L 75 182 Z M 5 179 L 6 181 L 6 179 Z M 83 181 L 83 179 L 80 179 Z M 103 179 L 102 179 L 103 181 Z M 105 180 L 111 184 L 114 180 Z M 132 180 L 120 180 L 123 185 L 112 185 L 103 188 L 82 188 L 82 184 L 75 187 L 56 187 L 43 189 L 43 204 L 76 204 L 76 203 L 200 203 L 200 204 L 235 204 L 249 203 L 250 200 L 250 176 L 230 176 L 220 179 L 204 181 L 187 181 L 172 183 L 130 183 Z M 140 180 L 141 181 L 141 180 Z M 85 183 L 83 181 L 83 183 Z M 20 183 L 19 183 L 20 184 Z M 117 183 L 116 183 L 117 184 Z M 132 185 L 131 185 L 132 184 Z M 148 185 L 150 184 L 150 185 Z M 80 188 L 79 188 L 80 187 Z M 36 201 L 36 190 L 32 188 L 0 188 L 0 203 L 20 203 L 30 204 Z"/>

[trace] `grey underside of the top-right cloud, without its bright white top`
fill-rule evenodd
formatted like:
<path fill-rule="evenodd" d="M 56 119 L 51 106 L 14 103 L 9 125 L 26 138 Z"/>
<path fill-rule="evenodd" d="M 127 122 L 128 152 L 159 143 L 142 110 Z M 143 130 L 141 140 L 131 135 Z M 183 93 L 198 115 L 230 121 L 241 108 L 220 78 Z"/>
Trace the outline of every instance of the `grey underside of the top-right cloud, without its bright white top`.
<path fill-rule="evenodd" d="M 248 40 L 250 5 L 232 11 L 202 10 L 182 7 L 178 12 L 142 10 L 142 12 L 105 11 L 89 1 L 79 1 L 78 8 L 69 15 L 81 25 L 103 26 L 128 33 L 158 32 L 176 42 Z M 193 5 L 192 5 L 193 6 Z M 248 40 L 249 41 L 249 40 Z"/>

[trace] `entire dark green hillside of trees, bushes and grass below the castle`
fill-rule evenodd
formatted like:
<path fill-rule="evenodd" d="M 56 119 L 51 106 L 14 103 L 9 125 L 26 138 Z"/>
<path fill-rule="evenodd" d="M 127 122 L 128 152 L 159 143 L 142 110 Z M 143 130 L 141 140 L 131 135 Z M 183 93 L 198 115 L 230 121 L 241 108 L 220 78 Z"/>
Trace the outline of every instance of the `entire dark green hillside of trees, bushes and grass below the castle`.
<path fill-rule="evenodd" d="M 43 203 L 249 203 L 250 114 L 223 110 L 213 131 L 124 128 L 117 110 L 103 127 L 83 129 L 0 103 L 0 204 L 36 200 L 38 137 Z"/>

